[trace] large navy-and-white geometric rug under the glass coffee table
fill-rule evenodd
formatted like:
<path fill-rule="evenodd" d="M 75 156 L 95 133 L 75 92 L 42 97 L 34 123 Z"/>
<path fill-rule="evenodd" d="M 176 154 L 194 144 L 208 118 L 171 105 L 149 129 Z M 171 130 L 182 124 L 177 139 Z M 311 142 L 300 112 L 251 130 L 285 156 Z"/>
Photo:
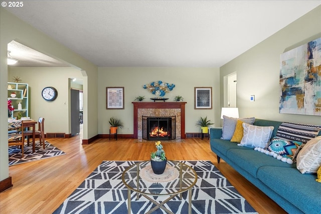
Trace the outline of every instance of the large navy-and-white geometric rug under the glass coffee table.
<path fill-rule="evenodd" d="M 103 161 L 78 188 L 55 210 L 57 213 L 127 213 L 127 188 L 122 172 L 138 161 Z M 181 161 L 198 174 L 193 187 L 192 213 L 257 213 L 211 161 Z M 168 185 L 171 188 L 171 185 Z M 131 194 L 131 213 L 145 213 L 155 205 L 145 197 Z M 153 197 L 160 202 L 167 197 Z M 174 213 L 188 213 L 188 194 L 175 196 L 165 203 Z M 166 213 L 156 209 L 152 213 Z"/>

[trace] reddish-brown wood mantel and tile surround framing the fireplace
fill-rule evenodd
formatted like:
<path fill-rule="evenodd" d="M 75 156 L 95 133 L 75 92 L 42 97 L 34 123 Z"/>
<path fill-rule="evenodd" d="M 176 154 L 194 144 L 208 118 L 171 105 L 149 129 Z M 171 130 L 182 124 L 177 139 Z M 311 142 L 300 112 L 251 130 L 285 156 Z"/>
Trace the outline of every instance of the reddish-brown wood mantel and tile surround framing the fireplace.
<path fill-rule="evenodd" d="M 176 140 L 185 139 L 186 102 L 132 102 L 134 105 L 134 138 L 142 141 L 142 116 L 176 116 Z"/>

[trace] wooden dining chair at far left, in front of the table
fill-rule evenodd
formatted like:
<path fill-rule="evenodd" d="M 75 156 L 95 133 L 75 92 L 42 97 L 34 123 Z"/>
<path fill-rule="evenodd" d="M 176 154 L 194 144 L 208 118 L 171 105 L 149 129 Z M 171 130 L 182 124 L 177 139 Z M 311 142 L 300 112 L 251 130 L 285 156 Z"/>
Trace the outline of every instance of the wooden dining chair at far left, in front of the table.
<path fill-rule="evenodd" d="M 16 130 L 14 133 L 8 133 L 8 144 L 9 146 L 20 146 L 22 157 L 24 157 L 25 135 L 24 132 L 18 132 L 20 128 L 24 130 L 24 121 L 8 123 L 8 131 Z"/>

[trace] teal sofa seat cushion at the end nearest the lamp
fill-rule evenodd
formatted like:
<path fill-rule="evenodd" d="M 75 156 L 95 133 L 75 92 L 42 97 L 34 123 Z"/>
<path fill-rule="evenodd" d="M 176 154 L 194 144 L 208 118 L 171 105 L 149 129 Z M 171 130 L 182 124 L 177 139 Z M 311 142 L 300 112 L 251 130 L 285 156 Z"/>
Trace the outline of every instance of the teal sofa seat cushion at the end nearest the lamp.
<path fill-rule="evenodd" d="M 230 143 L 234 144 L 234 143 Z M 226 152 L 226 155 L 235 162 L 238 166 L 246 170 L 253 177 L 256 177 L 256 172 L 258 168 L 262 166 L 280 166 L 284 168 L 294 167 L 293 165 L 279 161 L 269 155 L 266 155 L 261 152 L 254 151 L 254 149 L 240 149 L 248 147 L 239 147 L 236 149 L 229 149 Z M 295 168 L 296 169 L 296 168 Z"/>

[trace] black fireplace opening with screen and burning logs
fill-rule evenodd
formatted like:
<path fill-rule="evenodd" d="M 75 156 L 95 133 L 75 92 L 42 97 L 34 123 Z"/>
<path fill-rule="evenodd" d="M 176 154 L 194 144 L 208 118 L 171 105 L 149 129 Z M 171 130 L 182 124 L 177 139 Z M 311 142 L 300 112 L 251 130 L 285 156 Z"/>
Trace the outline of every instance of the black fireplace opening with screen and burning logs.
<path fill-rule="evenodd" d="M 176 138 L 176 116 L 142 116 L 142 138 L 144 140 L 174 140 Z"/>

